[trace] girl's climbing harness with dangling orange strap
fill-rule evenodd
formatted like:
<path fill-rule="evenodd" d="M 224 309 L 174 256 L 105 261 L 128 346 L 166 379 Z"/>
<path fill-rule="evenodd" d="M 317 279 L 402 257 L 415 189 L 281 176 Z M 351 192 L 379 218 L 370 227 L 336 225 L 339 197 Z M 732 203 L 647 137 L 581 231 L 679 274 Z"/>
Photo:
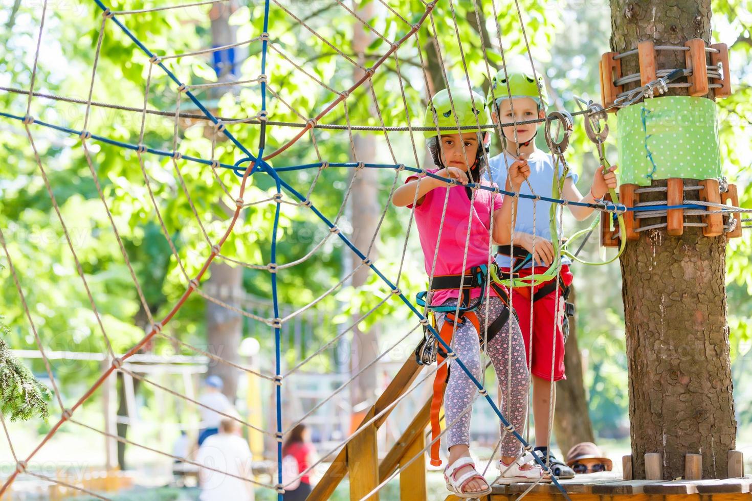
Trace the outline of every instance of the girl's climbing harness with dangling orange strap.
<path fill-rule="evenodd" d="M 492 264 L 492 268 L 493 267 L 496 267 L 495 263 Z M 431 284 L 429 285 L 429 291 L 462 291 L 462 297 L 458 298 L 459 308 L 456 304 L 446 306 L 429 305 L 426 304 L 426 297 L 429 291 L 423 291 L 417 294 L 417 304 L 429 309 L 429 315 L 431 318 L 430 325 L 434 330 L 437 330 L 436 314 L 439 313 L 444 315 L 444 322 L 441 324 L 441 329 L 438 330 L 438 335 L 447 346 L 451 346 L 456 326 L 464 325 L 465 322 L 470 321 L 475 327 L 475 331 L 478 333 L 481 342 L 481 349 L 484 349 L 485 344 L 493 340 L 493 338 L 496 337 L 496 334 L 501 332 L 502 327 L 504 327 L 509 321 L 509 315 L 513 310 L 509 303 L 507 291 L 502 285 L 493 281 L 489 282 L 488 276 L 488 266 L 486 264 L 481 264 L 481 266 L 472 267 L 462 275 L 438 275 L 433 277 Z M 497 297 L 499 297 L 499 300 L 502 301 L 504 307 L 499 313 L 499 316 L 488 325 L 486 336 L 484 336 L 481 332 L 481 326 L 476 311 L 486 297 L 487 286 L 493 290 Z M 471 303 L 470 293 L 475 288 L 481 289 L 481 295 Z M 431 464 L 434 466 L 441 466 L 441 460 L 438 457 L 438 451 L 441 446 L 441 422 L 439 419 L 439 412 L 441 412 L 441 406 L 444 403 L 444 391 L 447 388 L 450 373 L 450 365 L 444 364 L 444 360 L 446 358 L 456 358 L 456 354 L 454 352 L 447 353 L 443 346 L 439 345 L 438 340 L 431 333 L 428 322 L 423 324 L 423 333 L 423 340 L 415 349 L 415 361 L 420 365 L 429 365 L 435 361 L 439 365 L 433 381 L 430 419 L 431 438 L 432 441 L 435 440 L 431 445 Z"/>

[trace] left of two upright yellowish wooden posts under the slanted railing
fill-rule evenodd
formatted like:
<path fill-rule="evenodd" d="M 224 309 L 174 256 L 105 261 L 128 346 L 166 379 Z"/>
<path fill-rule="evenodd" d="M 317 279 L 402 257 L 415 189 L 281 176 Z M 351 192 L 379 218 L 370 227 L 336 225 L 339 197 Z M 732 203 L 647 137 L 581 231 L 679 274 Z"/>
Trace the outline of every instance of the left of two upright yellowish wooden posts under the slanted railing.
<path fill-rule="evenodd" d="M 350 474 L 350 499 L 362 499 L 378 485 L 378 452 L 376 431 L 373 423 L 350 439 L 347 448 L 347 472 Z M 378 501 L 378 492 L 368 501 Z"/>

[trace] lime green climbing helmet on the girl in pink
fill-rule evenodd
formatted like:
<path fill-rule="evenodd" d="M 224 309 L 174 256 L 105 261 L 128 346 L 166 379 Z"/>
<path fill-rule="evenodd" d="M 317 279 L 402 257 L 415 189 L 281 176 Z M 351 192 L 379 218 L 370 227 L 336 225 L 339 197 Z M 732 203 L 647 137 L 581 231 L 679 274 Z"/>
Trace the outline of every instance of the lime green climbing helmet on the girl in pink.
<path fill-rule="evenodd" d="M 491 123 L 490 115 L 486 104 L 483 101 L 483 96 L 478 92 L 473 92 L 468 89 L 453 88 L 450 89 L 452 93 L 452 101 L 449 101 L 449 92 L 447 89 L 440 90 L 435 93 L 431 98 L 431 102 L 426 107 L 426 115 L 423 117 L 423 126 L 430 127 L 430 130 L 423 131 L 423 135 L 426 139 L 436 137 L 438 135 L 456 134 L 456 128 L 453 131 L 446 130 L 441 131 L 438 134 L 436 131 L 436 125 L 438 122 L 439 127 L 456 127 L 457 122 L 459 126 L 475 125 L 475 128 L 463 128 L 462 133 L 465 132 L 481 132 L 478 125 L 487 125 Z M 433 106 L 432 106 L 433 104 Z M 454 104 L 454 111 L 457 116 L 452 114 L 452 104 Z M 435 112 L 435 121 L 434 121 Z"/>

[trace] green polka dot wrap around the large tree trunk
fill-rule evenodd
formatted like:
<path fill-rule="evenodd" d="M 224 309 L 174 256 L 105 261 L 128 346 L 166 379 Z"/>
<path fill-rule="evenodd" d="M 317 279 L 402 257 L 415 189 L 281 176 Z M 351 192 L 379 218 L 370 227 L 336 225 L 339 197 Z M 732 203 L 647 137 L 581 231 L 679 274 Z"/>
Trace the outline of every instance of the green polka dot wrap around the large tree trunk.
<path fill-rule="evenodd" d="M 714 101 L 684 95 L 619 110 L 620 182 L 650 186 L 669 177 L 720 177 L 717 118 Z"/>

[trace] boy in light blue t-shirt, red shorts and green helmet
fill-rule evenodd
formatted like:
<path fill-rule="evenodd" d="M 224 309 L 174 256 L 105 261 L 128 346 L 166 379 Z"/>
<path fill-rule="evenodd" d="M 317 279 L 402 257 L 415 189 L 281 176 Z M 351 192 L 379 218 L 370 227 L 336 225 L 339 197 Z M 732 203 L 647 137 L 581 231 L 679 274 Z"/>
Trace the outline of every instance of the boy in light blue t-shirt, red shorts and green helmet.
<path fill-rule="evenodd" d="M 542 100 L 542 102 L 541 102 Z M 546 102 L 546 91 L 541 77 L 537 79 L 532 74 L 522 71 L 505 71 L 502 68 L 493 80 L 489 89 L 487 105 L 490 107 L 491 118 L 494 123 L 514 123 L 532 119 L 545 118 L 543 105 Z M 502 151 L 490 158 L 489 172 L 491 179 L 497 186 L 505 186 L 508 166 L 516 160 L 527 160 L 530 168 L 528 181 L 523 183 L 520 193 L 529 195 L 552 195 L 554 161 L 550 153 L 535 147 L 533 139 L 537 134 L 538 124 L 508 125 L 502 127 L 504 136 Z M 583 196 L 575 186 L 577 174 L 567 174 L 564 180 L 562 198 L 569 201 L 592 203 L 596 198 L 602 198 L 608 189 L 616 188 L 617 180 L 612 166 L 604 172 L 603 166 L 596 169 L 593 184 L 587 195 Z M 559 164 L 559 176 L 563 174 L 563 166 Z M 514 252 L 510 255 L 509 241 L 498 242 L 499 254 L 496 263 L 505 273 L 514 270 L 520 276 L 532 273 L 544 273 L 553 261 L 554 249 L 550 234 L 550 202 L 533 201 L 520 198 L 517 206 L 517 219 L 514 228 Z M 535 207 L 535 210 L 534 208 Z M 569 211 L 575 219 L 586 219 L 593 213 L 592 207 L 578 207 L 569 204 Z M 558 210 L 556 211 L 558 214 Z M 559 238 L 561 228 L 558 228 Z M 535 249 L 533 249 L 533 234 L 535 234 Z M 512 302 L 520 321 L 520 328 L 525 340 L 530 372 L 532 373 L 532 413 L 535 421 L 535 452 L 548 462 L 553 474 L 562 478 L 572 478 L 575 473 L 566 463 L 562 463 L 551 456 L 548 451 L 548 426 L 551 385 L 553 382 L 565 379 L 564 375 L 564 314 L 566 310 L 565 298 L 572 284 L 572 273 L 569 270 L 569 258 L 562 258 L 562 270 L 559 283 L 556 279 L 536 285 L 532 291 L 529 287 L 514 288 Z M 556 286 L 559 286 L 558 294 Z M 556 300 L 558 297 L 558 301 Z M 532 318 L 530 303 L 532 300 Z M 554 318 L 556 327 L 554 330 Z M 530 324 L 532 323 L 532 332 Z M 532 333 L 532 336 L 531 336 Z M 554 340 L 554 336 L 556 339 Z M 552 364 L 553 359 L 553 364 Z M 553 366 L 553 372 L 552 372 Z M 554 387 L 555 388 L 555 387 Z M 556 400 L 556 393 L 553 393 Z M 503 468 L 504 466 L 502 466 Z"/>

